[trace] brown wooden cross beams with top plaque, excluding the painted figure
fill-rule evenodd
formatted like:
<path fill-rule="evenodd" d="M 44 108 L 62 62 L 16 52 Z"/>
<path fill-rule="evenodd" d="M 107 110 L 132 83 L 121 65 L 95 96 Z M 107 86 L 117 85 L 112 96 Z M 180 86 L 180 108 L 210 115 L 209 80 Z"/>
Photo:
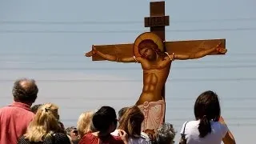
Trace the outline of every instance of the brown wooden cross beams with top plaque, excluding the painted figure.
<path fill-rule="evenodd" d="M 169 26 L 169 16 L 165 16 L 165 2 L 150 2 L 150 17 L 145 19 L 145 27 L 150 27 L 150 31 L 157 34 L 162 41 L 166 40 L 165 26 Z M 218 42 L 222 42 L 221 46 L 225 48 L 225 39 L 210 39 L 210 40 L 193 40 L 193 41 L 176 41 L 165 42 L 165 50 L 174 54 L 195 54 L 202 49 L 210 49 L 216 46 Z M 97 50 L 104 54 L 118 54 L 118 57 L 134 56 L 134 43 L 117 44 L 117 45 L 102 45 L 94 46 Z M 218 54 L 213 52 L 211 54 Z M 97 54 L 92 57 L 93 61 L 104 61 L 105 59 Z M 162 89 L 162 96 L 165 98 L 165 87 Z"/>

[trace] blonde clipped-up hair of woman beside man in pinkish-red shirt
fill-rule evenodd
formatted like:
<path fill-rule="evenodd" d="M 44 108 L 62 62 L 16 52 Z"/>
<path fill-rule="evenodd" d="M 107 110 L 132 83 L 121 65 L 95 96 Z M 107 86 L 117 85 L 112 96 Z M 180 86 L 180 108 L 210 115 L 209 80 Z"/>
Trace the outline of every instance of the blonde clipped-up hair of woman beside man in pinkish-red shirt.
<path fill-rule="evenodd" d="M 46 103 L 39 107 L 24 137 L 30 142 L 42 142 L 43 137 L 50 137 L 54 132 L 60 131 L 62 128 L 58 123 L 58 106 Z"/>

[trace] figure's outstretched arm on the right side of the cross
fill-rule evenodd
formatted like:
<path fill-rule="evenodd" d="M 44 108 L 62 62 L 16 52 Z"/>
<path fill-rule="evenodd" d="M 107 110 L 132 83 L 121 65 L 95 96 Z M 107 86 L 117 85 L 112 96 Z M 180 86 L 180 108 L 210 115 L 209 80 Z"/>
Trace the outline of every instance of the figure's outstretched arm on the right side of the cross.
<path fill-rule="evenodd" d="M 224 48 L 220 48 L 219 47 L 220 44 L 221 43 L 219 43 L 217 46 L 215 46 L 214 48 L 211 48 L 209 50 L 199 51 L 196 54 L 174 54 L 174 59 L 186 60 L 186 59 L 202 58 L 202 57 L 206 56 L 207 54 L 214 52 L 215 50 L 218 51 L 220 54 L 226 54 L 227 50 Z"/>

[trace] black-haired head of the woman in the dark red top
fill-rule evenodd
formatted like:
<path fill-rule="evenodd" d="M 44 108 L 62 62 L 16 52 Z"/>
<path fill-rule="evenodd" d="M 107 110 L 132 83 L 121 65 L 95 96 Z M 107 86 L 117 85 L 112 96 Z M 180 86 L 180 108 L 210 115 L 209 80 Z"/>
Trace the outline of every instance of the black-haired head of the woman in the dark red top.
<path fill-rule="evenodd" d="M 93 115 L 93 125 L 96 130 L 102 134 L 112 133 L 118 124 L 117 115 L 114 108 L 102 106 Z"/>

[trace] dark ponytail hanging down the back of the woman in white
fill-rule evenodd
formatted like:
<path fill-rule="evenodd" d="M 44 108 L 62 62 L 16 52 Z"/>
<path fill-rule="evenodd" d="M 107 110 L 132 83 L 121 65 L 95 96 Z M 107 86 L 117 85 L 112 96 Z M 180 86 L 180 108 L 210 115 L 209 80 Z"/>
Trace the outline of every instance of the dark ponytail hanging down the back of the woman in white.
<path fill-rule="evenodd" d="M 211 132 L 210 120 L 206 118 L 206 115 L 204 115 L 202 119 L 200 119 L 198 130 L 200 138 L 204 138 L 207 134 Z"/>

